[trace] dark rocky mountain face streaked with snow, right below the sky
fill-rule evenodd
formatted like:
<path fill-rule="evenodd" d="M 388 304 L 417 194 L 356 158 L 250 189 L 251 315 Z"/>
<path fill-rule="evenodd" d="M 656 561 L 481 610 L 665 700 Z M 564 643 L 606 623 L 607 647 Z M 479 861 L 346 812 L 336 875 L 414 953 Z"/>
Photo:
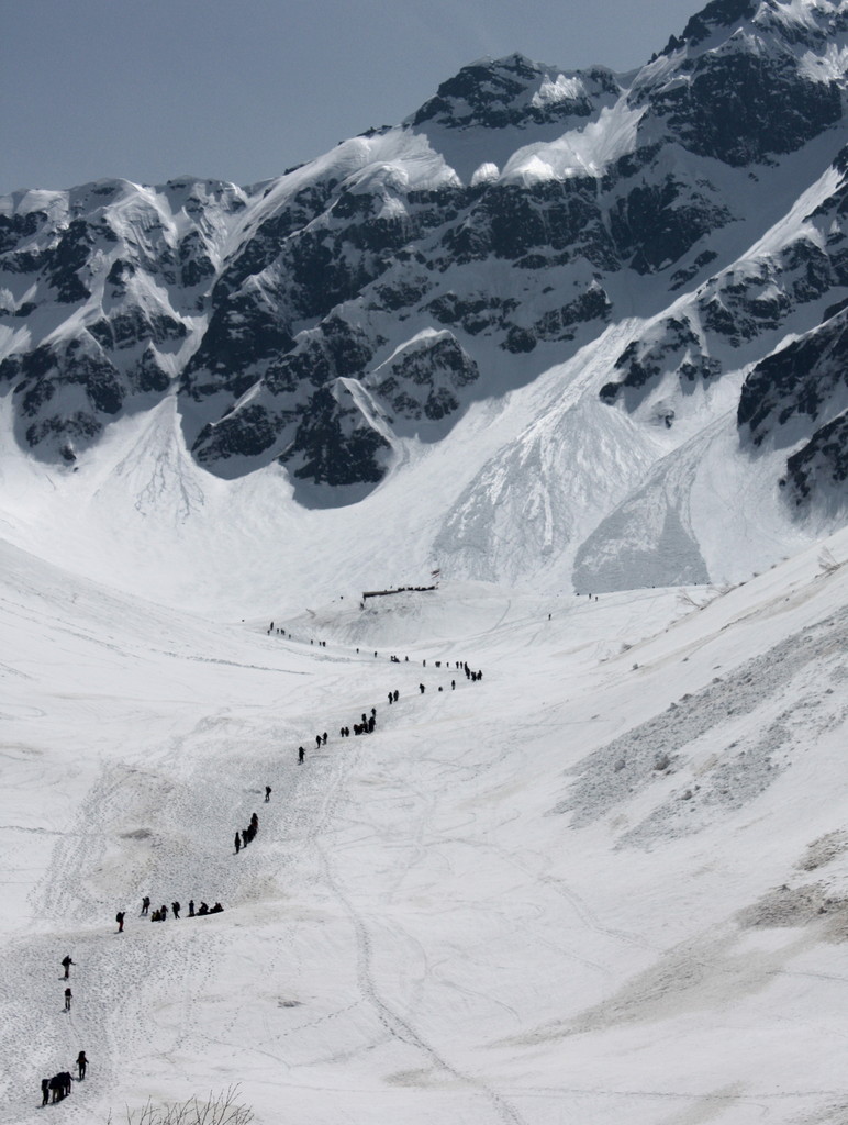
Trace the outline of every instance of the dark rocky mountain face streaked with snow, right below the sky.
<path fill-rule="evenodd" d="M 695 388 L 747 372 L 741 448 L 785 448 L 788 506 L 832 504 L 847 65 L 841 0 L 714 0 L 633 74 L 476 63 L 258 187 L 8 197 L 17 440 L 70 464 L 173 395 L 208 471 L 277 461 L 346 503 L 404 441 L 635 317 L 606 408 L 674 430 Z"/>

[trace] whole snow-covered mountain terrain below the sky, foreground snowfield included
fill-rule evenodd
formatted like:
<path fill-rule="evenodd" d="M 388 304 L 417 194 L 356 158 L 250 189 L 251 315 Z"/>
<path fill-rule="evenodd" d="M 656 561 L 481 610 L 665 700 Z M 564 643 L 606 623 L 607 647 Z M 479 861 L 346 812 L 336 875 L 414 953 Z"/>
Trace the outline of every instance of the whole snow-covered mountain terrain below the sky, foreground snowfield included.
<path fill-rule="evenodd" d="M 848 1122 L 846 66 L 0 200 L 0 1125 Z"/>

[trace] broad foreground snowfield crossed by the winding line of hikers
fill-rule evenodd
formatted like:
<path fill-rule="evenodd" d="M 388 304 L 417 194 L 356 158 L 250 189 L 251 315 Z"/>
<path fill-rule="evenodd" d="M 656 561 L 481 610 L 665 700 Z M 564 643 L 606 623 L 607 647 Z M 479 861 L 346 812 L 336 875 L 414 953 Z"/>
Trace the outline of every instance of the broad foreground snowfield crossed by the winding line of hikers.
<path fill-rule="evenodd" d="M 847 576 L 842 531 L 724 588 L 289 585 L 269 634 L 3 540 L 0 1123 L 80 1050 L 87 1125 L 848 1120 Z"/>

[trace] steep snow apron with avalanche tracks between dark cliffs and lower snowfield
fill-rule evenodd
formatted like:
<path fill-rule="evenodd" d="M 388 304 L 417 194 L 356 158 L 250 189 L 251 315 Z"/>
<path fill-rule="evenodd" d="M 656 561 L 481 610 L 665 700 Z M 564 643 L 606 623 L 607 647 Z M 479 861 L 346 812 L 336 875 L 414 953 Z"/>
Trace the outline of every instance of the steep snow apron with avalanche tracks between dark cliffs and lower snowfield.
<path fill-rule="evenodd" d="M 739 380 L 693 393 L 674 431 L 661 404 L 646 406 L 657 413 L 646 425 L 598 398 L 641 323 L 473 404 L 437 443 L 411 439 L 389 477 L 348 506 L 295 503 L 279 466 L 235 480 L 206 472 L 173 397 L 115 422 L 73 468 L 8 442 L 0 533 L 111 587 L 236 621 L 416 585 L 436 567 L 551 595 L 738 582 L 814 541 L 820 526 L 786 520 L 774 483 L 784 454 L 739 450 Z M 669 512 L 679 550 L 660 533 Z"/>

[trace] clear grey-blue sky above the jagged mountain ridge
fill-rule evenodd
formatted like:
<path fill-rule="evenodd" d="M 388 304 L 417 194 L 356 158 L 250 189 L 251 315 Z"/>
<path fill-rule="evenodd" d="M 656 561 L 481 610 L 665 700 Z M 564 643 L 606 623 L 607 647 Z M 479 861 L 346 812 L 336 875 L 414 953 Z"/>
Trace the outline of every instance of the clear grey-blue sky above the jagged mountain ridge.
<path fill-rule="evenodd" d="M 706 0 L 0 0 L 0 194 L 279 176 L 513 51 L 626 71 Z"/>

